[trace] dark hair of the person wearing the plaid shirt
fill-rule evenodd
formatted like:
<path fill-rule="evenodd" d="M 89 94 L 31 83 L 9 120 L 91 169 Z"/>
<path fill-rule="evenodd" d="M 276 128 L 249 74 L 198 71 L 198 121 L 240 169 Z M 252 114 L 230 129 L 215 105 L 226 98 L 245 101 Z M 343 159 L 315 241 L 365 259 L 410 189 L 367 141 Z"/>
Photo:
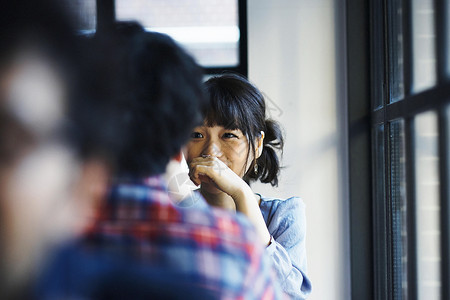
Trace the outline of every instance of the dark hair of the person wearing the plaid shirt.
<path fill-rule="evenodd" d="M 104 81 L 114 85 L 111 97 L 121 107 L 117 121 L 125 129 L 118 175 L 161 174 L 203 120 L 201 68 L 170 37 L 135 22 L 118 22 L 114 32 L 95 39 L 114 55 L 107 58 L 114 63 Z"/>

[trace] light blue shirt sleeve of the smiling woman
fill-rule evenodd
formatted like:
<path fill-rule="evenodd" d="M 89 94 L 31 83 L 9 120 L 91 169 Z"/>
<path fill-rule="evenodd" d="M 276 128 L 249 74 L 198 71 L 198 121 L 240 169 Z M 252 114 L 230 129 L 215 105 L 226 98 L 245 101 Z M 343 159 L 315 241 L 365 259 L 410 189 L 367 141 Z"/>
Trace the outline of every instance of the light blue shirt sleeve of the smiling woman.
<path fill-rule="evenodd" d="M 266 252 L 283 291 L 291 299 L 306 299 L 311 282 L 306 275 L 305 205 L 297 197 L 276 201 L 279 205 L 268 224 L 272 237 Z"/>

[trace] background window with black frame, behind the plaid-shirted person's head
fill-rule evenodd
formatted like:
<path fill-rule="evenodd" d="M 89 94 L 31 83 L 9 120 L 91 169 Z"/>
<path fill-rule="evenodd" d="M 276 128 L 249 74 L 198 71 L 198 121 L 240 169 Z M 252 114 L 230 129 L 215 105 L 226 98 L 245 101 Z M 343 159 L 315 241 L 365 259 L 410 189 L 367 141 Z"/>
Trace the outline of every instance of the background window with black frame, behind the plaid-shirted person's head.
<path fill-rule="evenodd" d="M 65 2 L 82 34 L 102 34 L 115 20 L 136 20 L 189 52 L 207 74 L 247 76 L 246 0 L 74 0 Z"/>

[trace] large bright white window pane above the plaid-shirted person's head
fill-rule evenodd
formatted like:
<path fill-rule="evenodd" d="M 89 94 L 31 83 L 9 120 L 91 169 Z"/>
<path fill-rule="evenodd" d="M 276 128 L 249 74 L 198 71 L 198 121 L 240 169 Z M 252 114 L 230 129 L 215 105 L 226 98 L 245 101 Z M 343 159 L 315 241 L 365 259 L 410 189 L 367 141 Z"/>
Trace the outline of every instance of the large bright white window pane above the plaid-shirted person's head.
<path fill-rule="evenodd" d="M 238 0 L 116 0 L 116 16 L 170 35 L 204 67 L 239 64 Z"/>

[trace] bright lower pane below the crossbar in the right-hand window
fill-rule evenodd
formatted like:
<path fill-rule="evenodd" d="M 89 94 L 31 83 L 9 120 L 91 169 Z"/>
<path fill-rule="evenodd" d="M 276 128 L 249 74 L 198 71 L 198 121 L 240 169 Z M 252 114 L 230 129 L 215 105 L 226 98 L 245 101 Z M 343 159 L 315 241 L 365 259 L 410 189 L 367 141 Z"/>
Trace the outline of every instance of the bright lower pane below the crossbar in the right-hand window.
<path fill-rule="evenodd" d="M 438 129 L 435 112 L 414 123 L 418 299 L 440 299 L 440 201 Z"/>

